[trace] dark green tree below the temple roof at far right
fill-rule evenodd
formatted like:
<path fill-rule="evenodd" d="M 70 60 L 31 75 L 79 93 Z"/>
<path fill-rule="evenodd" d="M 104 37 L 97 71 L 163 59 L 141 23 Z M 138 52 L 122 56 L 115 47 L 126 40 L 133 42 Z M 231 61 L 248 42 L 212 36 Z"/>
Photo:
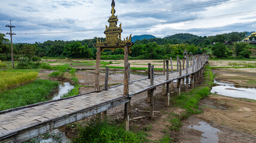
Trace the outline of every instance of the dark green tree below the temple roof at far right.
<path fill-rule="evenodd" d="M 248 43 L 243 42 L 234 43 L 234 52 L 237 58 L 250 58 L 251 55 Z"/>

